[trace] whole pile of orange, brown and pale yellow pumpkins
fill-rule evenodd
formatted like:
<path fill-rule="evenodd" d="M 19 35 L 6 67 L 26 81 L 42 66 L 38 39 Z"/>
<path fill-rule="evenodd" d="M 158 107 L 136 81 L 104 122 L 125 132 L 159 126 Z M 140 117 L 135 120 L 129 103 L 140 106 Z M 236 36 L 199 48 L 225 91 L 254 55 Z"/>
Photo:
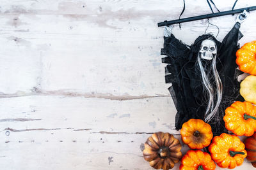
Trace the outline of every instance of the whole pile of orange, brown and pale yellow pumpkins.
<path fill-rule="evenodd" d="M 222 133 L 213 138 L 211 125 L 190 119 L 182 125 L 180 134 L 182 142 L 191 150 L 182 157 L 179 139 L 169 133 L 154 133 L 143 150 L 143 157 L 150 166 L 168 170 L 181 159 L 180 170 L 212 170 L 216 164 L 233 169 L 243 164 L 246 157 L 256 167 L 256 41 L 244 44 L 236 56 L 239 69 L 250 75 L 241 82 L 240 94 L 245 101 L 233 103 L 223 117 L 226 129 L 235 135 Z M 248 138 L 243 143 L 237 136 Z M 211 154 L 201 151 L 205 147 Z"/>

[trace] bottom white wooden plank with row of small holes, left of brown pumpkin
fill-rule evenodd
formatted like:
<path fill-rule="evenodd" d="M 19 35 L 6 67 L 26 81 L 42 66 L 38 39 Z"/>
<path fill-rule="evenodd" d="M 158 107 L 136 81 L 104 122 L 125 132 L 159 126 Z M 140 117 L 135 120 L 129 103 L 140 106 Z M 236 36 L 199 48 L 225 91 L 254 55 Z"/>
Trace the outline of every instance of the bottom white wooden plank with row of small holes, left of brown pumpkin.
<path fill-rule="evenodd" d="M 90 135 L 83 131 L 71 133 L 61 131 L 53 134 L 40 131 L 19 132 L 19 134 L 23 136 L 27 134 L 35 138 L 31 141 L 2 143 L 1 167 L 8 167 L 8 169 L 17 169 L 17 167 L 19 169 L 152 169 L 143 159 L 140 147 L 141 143 L 150 136 L 149 134 Z M 179 167 L 179 164 L 176 167 Z"/>

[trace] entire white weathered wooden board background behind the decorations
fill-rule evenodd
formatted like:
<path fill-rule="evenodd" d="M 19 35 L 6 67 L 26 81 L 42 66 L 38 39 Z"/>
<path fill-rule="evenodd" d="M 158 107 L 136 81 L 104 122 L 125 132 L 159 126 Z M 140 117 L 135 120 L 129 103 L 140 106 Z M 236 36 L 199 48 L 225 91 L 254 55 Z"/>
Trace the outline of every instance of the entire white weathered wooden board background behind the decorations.
<path fill-rule="evenodd" d="M 234 0 L 214 2 L 225 11 Z M 180 139 L 157 22 L 182 8 L 181 0 L 1 0 L 0 169 L 152 169 L 141 152 L 147 138 Z M 182 17 L 206 13 L 205 0 L 186 0 Z M 236 16 L 210 20 L 222 40 Z M 206 27 L 198 20 L 173 34 L 190 44 Z M 255 11 L 241 32 L 241 45 L 256 39 Z"/>

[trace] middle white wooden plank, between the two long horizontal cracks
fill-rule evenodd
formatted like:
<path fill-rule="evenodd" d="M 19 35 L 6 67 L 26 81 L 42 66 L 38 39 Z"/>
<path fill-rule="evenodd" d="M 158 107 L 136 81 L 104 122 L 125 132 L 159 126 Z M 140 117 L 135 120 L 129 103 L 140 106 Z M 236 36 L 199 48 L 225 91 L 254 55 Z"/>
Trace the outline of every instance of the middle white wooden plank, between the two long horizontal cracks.
<path fill-rule="evenodd" d="M 1 129 L 10 128 L 11 132 L 70 129 L 99 134 L 147 134 L 156 131 L 179 134 L 174 130 L 176 111 L 170 97 L 113 101 L 85 97 L 26 96 L 0 100 Z"/>

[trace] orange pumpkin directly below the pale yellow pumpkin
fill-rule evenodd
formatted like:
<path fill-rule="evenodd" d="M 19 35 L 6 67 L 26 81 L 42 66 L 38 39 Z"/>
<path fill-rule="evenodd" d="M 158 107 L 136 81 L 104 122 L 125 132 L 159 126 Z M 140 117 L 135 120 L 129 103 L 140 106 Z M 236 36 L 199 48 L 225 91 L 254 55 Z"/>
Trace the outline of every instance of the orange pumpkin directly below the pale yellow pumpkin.
<path fill-rule="evenodd" d="M 238 136 L 252 136 L 256 131 L 256 106 L 236 101 L 225 111 L 225 127 Z"/>

